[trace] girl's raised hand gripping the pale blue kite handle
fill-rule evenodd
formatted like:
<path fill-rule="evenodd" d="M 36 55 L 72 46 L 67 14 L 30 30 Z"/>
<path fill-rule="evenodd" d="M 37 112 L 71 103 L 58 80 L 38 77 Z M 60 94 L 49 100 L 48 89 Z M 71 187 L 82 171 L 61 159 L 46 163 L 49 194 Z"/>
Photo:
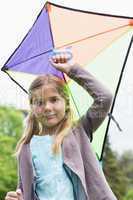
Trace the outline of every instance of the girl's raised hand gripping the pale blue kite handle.
<path fill-rule="evenodd" d="M 58 52 L 58 54 L 51 56 L 49 59 L 51 64 L 59 71 L 62 71 L 66 74 L 69 73 L 71 67 L 75 64 L 74 61 L 70 58 L 70 53 L 67 51 Z"/>

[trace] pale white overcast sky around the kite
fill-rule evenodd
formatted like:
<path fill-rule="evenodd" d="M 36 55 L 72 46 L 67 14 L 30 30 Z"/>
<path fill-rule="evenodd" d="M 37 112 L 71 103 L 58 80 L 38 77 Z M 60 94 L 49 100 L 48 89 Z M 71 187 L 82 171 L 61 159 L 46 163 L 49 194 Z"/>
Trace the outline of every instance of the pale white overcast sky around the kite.
<path fill-rule="evenodd" d="M 54 0 L 51 2 L 81 10 L 133 17 L 131 0 L 123 0 L 119 3 L 116 0 Z M 0 3 L 0 68 L 29 31 L 44 4 L 45 1 L 41 0 L 4 0 Z M 133 150 L 132 62 L 133 48 L 125 71 L 125 82 L 121 86 L 119 98 L 122 101 L 116 102 L 116 107 L 123 112 L 114 110 L 116 116 L 119 113 L 118 119 L 125 121 L 122 124 L 124 132 L 120 133 L 113 123 L 109 132 L 112 148 L 119 153 L 128 149 Z M 0 105 L 14 105 L 17 108 L 24 108 L 26 103 L 24 93 L 20 92 L 20 89 L 9 80 L 5 73 L 0 72 Z"/>

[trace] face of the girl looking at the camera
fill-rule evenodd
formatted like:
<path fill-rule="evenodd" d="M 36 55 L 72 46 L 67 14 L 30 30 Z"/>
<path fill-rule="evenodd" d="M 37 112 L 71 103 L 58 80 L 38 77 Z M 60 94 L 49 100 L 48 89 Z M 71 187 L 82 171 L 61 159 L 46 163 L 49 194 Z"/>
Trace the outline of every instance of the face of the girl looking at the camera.
<path fill-rule="evenodd" d="M 45 127 L 56 126 L 65 116 L 65 99 L 56 88 L 48 84 L 33 93 L 31 109 Z"/>

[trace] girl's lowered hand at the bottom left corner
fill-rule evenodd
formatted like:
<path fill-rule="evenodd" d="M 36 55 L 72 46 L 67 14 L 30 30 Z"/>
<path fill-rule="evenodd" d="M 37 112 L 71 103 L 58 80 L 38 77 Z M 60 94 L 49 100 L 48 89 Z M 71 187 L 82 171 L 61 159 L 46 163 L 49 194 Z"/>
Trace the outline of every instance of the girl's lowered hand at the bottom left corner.
<path fill-rule="evenodd" d="M 24 200 L 20 189 L 15 191 L 10 191 L 6 194 L 5 200 Z"/>

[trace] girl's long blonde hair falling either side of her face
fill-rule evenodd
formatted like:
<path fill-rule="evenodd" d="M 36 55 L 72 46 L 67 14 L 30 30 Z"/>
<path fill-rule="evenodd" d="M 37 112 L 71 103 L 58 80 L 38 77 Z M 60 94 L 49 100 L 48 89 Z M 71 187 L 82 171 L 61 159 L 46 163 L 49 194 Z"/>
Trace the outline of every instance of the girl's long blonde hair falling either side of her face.
<path fill-rule="evenodd" d="M 52 84 L 59 94 L 64 98 L 66 103 L 66 110 L 65 110 L 65 117 L 58 125 L 56 130 L 57 134 L 55 134 L 55 141 L 52 146 L 52 150 L 54 154 L 60 152 L 61 144 L 65 136 L 69 134 L 69 129 L 72 127 L 73 124 L 73 115 L 70 109 L 70 98 L 69 98 L 69 90 L 68 86 L 66 85 L 65 81 L 61 78 L 58 78 L 54 75 L 42 75 L 38 76 L 31 84 L 29 88 L 29 102 L 30 105 L 33 103 L 33 92 L 37 89 L 43 88 L 44 85 Z M 39 135 L 40 131 L 40 124 L 37 121 L 35 115 L 32 111 L 28 114 L 27 123 L 25 126 L 25 130 L 23 132 L 22 137 L 20 138 L 17 146 L 16 146 L 16 153 L 15 155 L 19 155 L 22 145 L 28 144 L 34 134 Z"/>

